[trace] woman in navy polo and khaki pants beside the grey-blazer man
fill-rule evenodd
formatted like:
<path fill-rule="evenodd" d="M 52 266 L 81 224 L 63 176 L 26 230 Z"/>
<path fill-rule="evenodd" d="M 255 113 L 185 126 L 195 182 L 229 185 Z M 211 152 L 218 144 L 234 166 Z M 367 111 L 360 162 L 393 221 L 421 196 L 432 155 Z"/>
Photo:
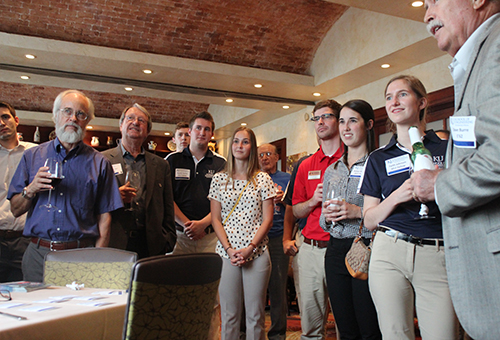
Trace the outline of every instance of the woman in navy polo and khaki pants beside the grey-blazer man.
<path fill-rule="evenodd" d="M 412 144 L 419 128 L 434 164 L 443 167 L 447 141 L 425 129 L 427 92 L 413 76 L 401 75 L 385 89 L 385 108 L 396 133 L 367 160 L 361 193 L 365 227 L 377 230 L 368 273 L 370 293 L 384 339 L 415 339 L 414 308 L 423 339 L 456 339 L 458 322 L 445 266 L 441 213 L 428 202 L 429 218 L 410 186 Z"/>

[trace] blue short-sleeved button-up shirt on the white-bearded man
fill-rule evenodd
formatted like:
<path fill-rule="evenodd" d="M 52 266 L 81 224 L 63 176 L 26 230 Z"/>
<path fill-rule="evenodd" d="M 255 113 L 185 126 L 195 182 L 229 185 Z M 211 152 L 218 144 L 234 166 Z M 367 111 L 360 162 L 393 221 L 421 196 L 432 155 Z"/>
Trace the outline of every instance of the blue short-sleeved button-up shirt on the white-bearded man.
<path fill-rule="evenodd" d="M 121 208 L 123 203 L 111 163 L 83 142 L 69 152 L 59 139 L 26 150 L 7 198 L 10 200 L 30 184 L 49 157 L 63 164 L 64 179 L 54 188 L 51 197 L 51 203 L 58 209 L 51 212 L 41 209 L 40 206 L 47 203 L 49 191 L 39 192 L 28 210 L 24 236 L 53 241 L 99 237 L 99 215 Z"/>

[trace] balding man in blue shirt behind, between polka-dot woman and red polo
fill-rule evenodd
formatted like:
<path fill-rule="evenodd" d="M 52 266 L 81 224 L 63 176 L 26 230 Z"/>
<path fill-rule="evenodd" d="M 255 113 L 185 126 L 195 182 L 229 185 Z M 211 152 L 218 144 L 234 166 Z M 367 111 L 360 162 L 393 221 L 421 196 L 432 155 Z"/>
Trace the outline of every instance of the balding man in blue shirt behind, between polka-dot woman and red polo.
<path fill-rule="evenodd" d="M 285 206 L 282 203 L 283 189 L 290 181 L 290 174 L 278 170 L 279 155 L 276 146 L 263 144 L 258 149 L 259 165 L 274 182 L 273 224 L 269 231 L 269 255 L 271 256 L 271 277 L 269 278 L 269 300 L 271 304 L 271 328 L 267 333 L 269 340 L 285 340 L 286 317 L 288 312 L 286 286 L 288 280 L 289 257 L 283 252 L 283 221 Z"/>

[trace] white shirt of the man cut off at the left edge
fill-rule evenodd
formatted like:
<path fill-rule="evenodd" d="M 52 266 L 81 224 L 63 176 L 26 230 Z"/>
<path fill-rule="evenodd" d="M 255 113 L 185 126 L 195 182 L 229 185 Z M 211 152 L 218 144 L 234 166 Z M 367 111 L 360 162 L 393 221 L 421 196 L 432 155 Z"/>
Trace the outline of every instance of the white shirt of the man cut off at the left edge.
<path fill-rule="evenodd" d="M 0 176 L 3 175 L 3 184 L 0 185 L 0 229 L 23 230 L 26 214 L 15 218 L 10 212 L 10 201 L 7 200 L 7 191 L 10 181 L 21 161 L 24 150 L 37 146 L 28 142 L 19 142 L 14 149 L 9 150 L 0 145 Z"/>

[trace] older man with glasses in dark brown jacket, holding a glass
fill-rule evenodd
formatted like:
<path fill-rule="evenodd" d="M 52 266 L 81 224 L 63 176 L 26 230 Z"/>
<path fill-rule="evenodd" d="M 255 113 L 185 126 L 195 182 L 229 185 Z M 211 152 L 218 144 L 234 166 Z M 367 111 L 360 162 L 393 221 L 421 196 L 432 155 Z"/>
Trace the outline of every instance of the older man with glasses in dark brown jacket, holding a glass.
<path fill-rule="evenodd" d="M 171 252 L 176 240 L 170 166 L 142 146 L 151 127 L 151 115 L 144 107 L 127 107 L 120 117 L 121 143 L 103 152 L 127 208 L 112 213 L 109 246 L 134 251 L 140 259 Z M 127 171 L 139 173 L 138 188 L 127 181 Z"/>

